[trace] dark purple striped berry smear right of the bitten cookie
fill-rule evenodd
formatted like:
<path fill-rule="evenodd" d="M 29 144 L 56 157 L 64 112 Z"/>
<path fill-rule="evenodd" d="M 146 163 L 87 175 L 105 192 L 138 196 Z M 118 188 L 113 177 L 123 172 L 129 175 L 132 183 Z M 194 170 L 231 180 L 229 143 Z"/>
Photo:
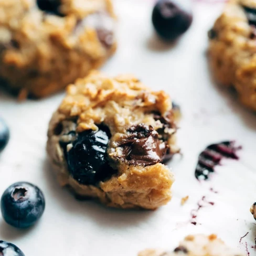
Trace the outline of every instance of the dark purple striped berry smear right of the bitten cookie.
<path fill-rule="evenodd" d="M 195 176 L 198 180 L 209 179 L 209 174 L 215 172 L 215 166 L 220 165 L 221 159 L 230 158 L 238 160 L 237 151 L 241 146 L 235 146 L 234 141 L 225 141 L 211 144 L 202 151 L 198 157 Z"/>

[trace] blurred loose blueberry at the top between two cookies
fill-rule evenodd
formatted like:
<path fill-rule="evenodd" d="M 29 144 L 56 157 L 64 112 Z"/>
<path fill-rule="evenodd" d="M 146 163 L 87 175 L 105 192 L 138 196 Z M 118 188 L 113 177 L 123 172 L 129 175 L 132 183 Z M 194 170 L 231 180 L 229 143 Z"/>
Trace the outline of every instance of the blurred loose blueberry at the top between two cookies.
<path fill-rule="evenodd" d="M 157 34 L 166 41 L 174 41 L 185 33 L 192 19 L 189 0 L 158 0 L 152 14 Z"/>

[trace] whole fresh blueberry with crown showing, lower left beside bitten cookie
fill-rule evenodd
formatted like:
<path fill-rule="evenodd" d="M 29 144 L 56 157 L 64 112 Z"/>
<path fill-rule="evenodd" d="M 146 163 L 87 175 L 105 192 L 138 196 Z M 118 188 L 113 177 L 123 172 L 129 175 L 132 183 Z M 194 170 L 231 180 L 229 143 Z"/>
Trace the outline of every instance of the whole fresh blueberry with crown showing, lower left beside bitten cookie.
<path fill-rule="evenodd" d="M 44 210 L 45 198 L 41 190 L 27 182 L 18 182 L 9 186 L 1 198 L 3 218 L 16 228 L 28 228 L 34 225 Z"/>

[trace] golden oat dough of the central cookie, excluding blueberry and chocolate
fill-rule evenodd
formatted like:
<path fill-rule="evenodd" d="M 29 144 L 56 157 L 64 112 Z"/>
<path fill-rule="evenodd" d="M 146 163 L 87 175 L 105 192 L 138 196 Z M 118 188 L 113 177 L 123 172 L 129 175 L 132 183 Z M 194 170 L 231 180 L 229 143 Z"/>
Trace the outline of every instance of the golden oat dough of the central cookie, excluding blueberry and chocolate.
<path fill-rule="evenodd" d="M 69 185 L 79 196 L 99 198 L 112 207 L 156 209 L 170 198 L 174 176 L 161 163 L 154 165 L 130 165 L 120 158 L 120 142 L 127 137 L 127 129 L 133 125 L 151 125 L 154 130 L 163 124 L 154 119 L 154 112 L 168 115 L 173 127 L 166 127 L 166 143 L 170 153 L 178 152 L 175 145 L 176 126 L 172 103 L 163 91 L 153 92 L 131 76 L 108 78 L 93 71 L 84 79 L 67 88 L 67 95 L 52 116 L 48 130 L 47 151 L 62 186 Z M 77 119 L 78 118 L 78 119 Z M 111 166 L 118 172 L 98 186 L 81 185 L 68 172 L 63 151 L 59 145 L 56 127 L 63 120 L 77 121 L 77 132 L 96 130 L 104 123 L 112 134 L 108 145 Z"/>

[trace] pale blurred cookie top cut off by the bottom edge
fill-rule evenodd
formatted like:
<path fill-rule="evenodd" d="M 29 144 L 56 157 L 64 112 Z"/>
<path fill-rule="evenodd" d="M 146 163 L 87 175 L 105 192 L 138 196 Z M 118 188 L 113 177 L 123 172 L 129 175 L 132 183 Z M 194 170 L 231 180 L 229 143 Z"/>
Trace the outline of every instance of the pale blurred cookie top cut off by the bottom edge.
<path fill-rule="evenodd" d="M 196 234 L 185 237 L 172 252 L 147 249 L 138 253 L 138 256 L 244 256 L 237 249 L 233 250 L 217 238 L 215 234 L 205 236 Z"/>

